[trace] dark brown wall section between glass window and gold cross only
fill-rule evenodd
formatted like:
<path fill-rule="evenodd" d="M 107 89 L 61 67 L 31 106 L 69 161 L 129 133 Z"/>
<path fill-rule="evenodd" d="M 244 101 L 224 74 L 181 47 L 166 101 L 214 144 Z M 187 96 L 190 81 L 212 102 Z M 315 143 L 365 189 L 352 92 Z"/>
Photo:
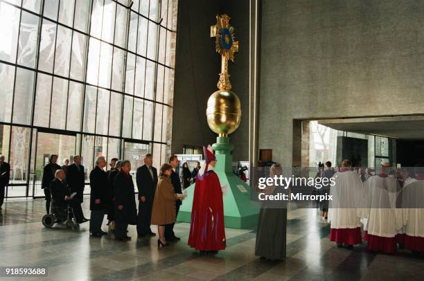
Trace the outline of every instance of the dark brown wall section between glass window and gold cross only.
<path fill-rule="evenodd" d="M 206 102 L 217 89 L 220 72 L 210 37 L 218 2 L 182 0 L 178 9 L 172 154 L 182 153 L 183 145 L 215 142 L 206 122 Z"/>

